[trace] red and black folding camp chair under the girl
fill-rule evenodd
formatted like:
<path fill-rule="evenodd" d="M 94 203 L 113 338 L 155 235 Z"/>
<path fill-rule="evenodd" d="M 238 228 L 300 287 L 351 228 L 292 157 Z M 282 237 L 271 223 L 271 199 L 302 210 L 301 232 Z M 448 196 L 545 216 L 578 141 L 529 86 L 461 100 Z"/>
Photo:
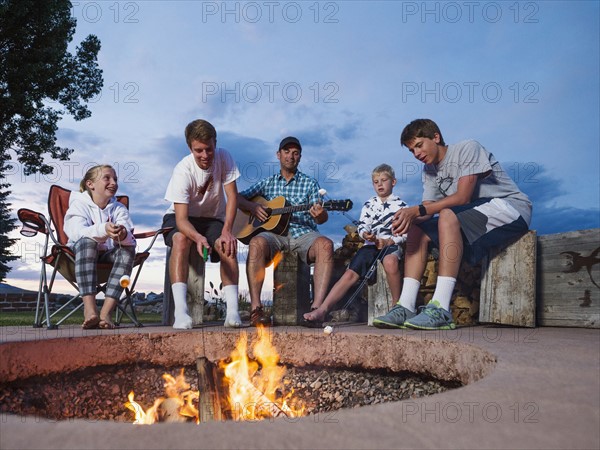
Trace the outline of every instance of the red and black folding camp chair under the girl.
<path fill-rule="evenodd" d="M 57 328 L 58 325 L 63 323 L 67 318 L 83 307 L 82 297 L 78 293 L 70 298 L 65 304 L 56 309 L 56 311 L 52 313 L 50 311 L 52 287 L 54 285 L 54 280 L 57 273 L 60 273 L 63 278 L 68 281 L 69 284 L 71 284 L 71 286 L 79 291 L 77 280 L 75 278 L 75 254 L 69 247 L 66 246 L 68 238 L 63 227 L 65 214 L 69 208 L 70 196 L 71 191 L 68 189 L 64 189 L 57 185 L 50 187 L 50 192 L 48 193 L 49 220 L 42 213 L 32 211 L 27 208 L 21 208 L 19 211 L 17 211 L 17 216 L 23 223 L 23 228 L 21 229 L 21 234 L 23 236 L 32 237 L 37 233 L 43 233 L 46 235 L 43 256 L 40 257 L 42 267 L 40 271 L 35 322 L 33 324 L 34 327 L 41 327 L 42 323 L 45 321 L 49 329 Z M 129 197 L 125 195 L 117 196 L 117 200 L 129 208 Z M 152 241 L 150 242 L 148 248 L 141 253 L 136 253 L 135 255 L 133 263 L 135 276 L 132 277 L 133 279 L 131 284 L 123 290 L 123 295 L 121 298 L 117 299 L 118 301 L 115 317 L 116 324 L 120 323 L 123 314 L 125 314 L 135 326 L 142 326 L 136 317 L 135 309 L 133 307 L 133 294 L 135 293 L 135 285 L 144 262 L 146 259 L 148 259 L 148 256 L 150 256 L 150 249 L 154 245 L 156 238 L 168 230 L 170 230 L 170 228 L 134 234 L 136 239 L 152 238 Z M 50 242 L 52 242 L 52 248 L 49 248 Z M 46 271 L 47 265 L 53 268 L 50 279 L 48 279 L 48 273 Z M 112 266 L 112 263 L 97 264 L 98 293 L 105 292 L 106 282 Z M 55 318 L 54 323 L 52 321 L 53 318 Z"/>

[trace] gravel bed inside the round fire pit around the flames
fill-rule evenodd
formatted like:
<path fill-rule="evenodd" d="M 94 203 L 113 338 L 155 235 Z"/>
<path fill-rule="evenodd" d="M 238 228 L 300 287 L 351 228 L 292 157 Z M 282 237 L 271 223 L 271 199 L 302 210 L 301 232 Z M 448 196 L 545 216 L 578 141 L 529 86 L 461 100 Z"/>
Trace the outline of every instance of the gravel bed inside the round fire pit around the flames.
<path fill-rule="evenodd" d="M 0 385 L 0 411 L 53 420 L 82 418 L 131 422 L 124 403 L 129 392 L 149 408 L 164 397 L 162 375 L 180 368 L 151 364 L 104 366 L 61 375 L 32 377 Z M 196 367 L 185 367 L 191 389 L 198 389 Z M 424 380 L 412 374 L 289 367 L 287 389 L 306 404 L 308 414 L 423 397 L 459 387 L 458 383 Z"/>

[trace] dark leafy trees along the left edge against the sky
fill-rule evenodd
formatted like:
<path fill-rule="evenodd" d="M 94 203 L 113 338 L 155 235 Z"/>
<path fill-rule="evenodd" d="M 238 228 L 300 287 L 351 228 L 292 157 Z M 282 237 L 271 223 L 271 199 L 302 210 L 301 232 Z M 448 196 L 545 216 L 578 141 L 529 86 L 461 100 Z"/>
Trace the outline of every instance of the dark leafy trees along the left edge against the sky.
<path fill-rule="evenodd" d="M 75 54 L 68 51 L 76 24 L 68 0 L 0 0 L 0 175 L 11 169 L 10 151 L 25 175 L 52 173 L 45 155 L 65 161 L 73 153 L 56 145 L 57 123 L 65 113 L 75 120 L 89 117 L 87 103 L 103 85 L 96 36 L 87 36 Z M 3 192 L 7 187 L 2 185 Z M 5 200 L 3 194 L 3 236 L 15 228 Z M 0 241 L 0 262 L 5 244 Z M 5 275 L 2 265 L 0 281 Z"/>

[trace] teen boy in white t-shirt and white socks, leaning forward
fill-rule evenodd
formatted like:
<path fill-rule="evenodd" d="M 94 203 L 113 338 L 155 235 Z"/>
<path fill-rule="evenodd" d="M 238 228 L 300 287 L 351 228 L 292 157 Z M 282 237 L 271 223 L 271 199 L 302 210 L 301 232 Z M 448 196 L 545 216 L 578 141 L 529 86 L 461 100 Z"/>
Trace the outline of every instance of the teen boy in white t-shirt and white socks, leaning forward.
<path fill-rule="evenodd" d="M 205 120 L 185 129 L 190 155 L 183 158 L 169 181 L 165 199 L 172 202 L 163 227 L 175 228 L 165 236 L 171 247 L 169 275 L 175 303 L 173 328 L 192 328 L 187 310 L 188 257 L 192 245 L 199 255 L 207 249 L 212 262 L 220 261 L 226 327 L 239 327 L 237 239 L 231 227 L 237 211 L 236 179 L 240 173 L 231 155 L 217 148 L 217 132 Z"/>

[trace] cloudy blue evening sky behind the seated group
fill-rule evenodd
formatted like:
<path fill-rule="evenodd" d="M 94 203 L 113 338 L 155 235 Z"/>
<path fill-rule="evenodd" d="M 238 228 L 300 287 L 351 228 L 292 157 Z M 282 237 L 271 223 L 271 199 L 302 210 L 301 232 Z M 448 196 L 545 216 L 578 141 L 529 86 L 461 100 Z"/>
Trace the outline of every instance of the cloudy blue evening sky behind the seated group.
<path fill-rule="evenodd" d="M 240 189 L 273 173 L 277 144 L 295 135 L 301 170 L 330 198 L 352 199 L 356 218 L 383 162 L 396 170 L 395 192 L 419 202 L 421 164 L 399 136 L 427 117 L 447 143 L 476 139 L 494 153 L 533 200 L 539 234 L 600 227 L 597 1 L 73 5 L 74 43 L 102 42 L 104 88 L 91 118 L 59 123 L 70 162 L 29 177 L 14 164 L 15 211 L 45 212 L 52 184 L 76 188 L 91 163 L 109 163 L 136 230 L 155 229 L 188 153 L 183 129 L 204 118 L 237 160 Z M 341 242 L 349 219 L 330 217 L 321 231 Z M 35 289 L 39 247 L 19 241 L 8 283 Z M 140 290 L 162 291 L 163 270 L 159 242 Z"/>

